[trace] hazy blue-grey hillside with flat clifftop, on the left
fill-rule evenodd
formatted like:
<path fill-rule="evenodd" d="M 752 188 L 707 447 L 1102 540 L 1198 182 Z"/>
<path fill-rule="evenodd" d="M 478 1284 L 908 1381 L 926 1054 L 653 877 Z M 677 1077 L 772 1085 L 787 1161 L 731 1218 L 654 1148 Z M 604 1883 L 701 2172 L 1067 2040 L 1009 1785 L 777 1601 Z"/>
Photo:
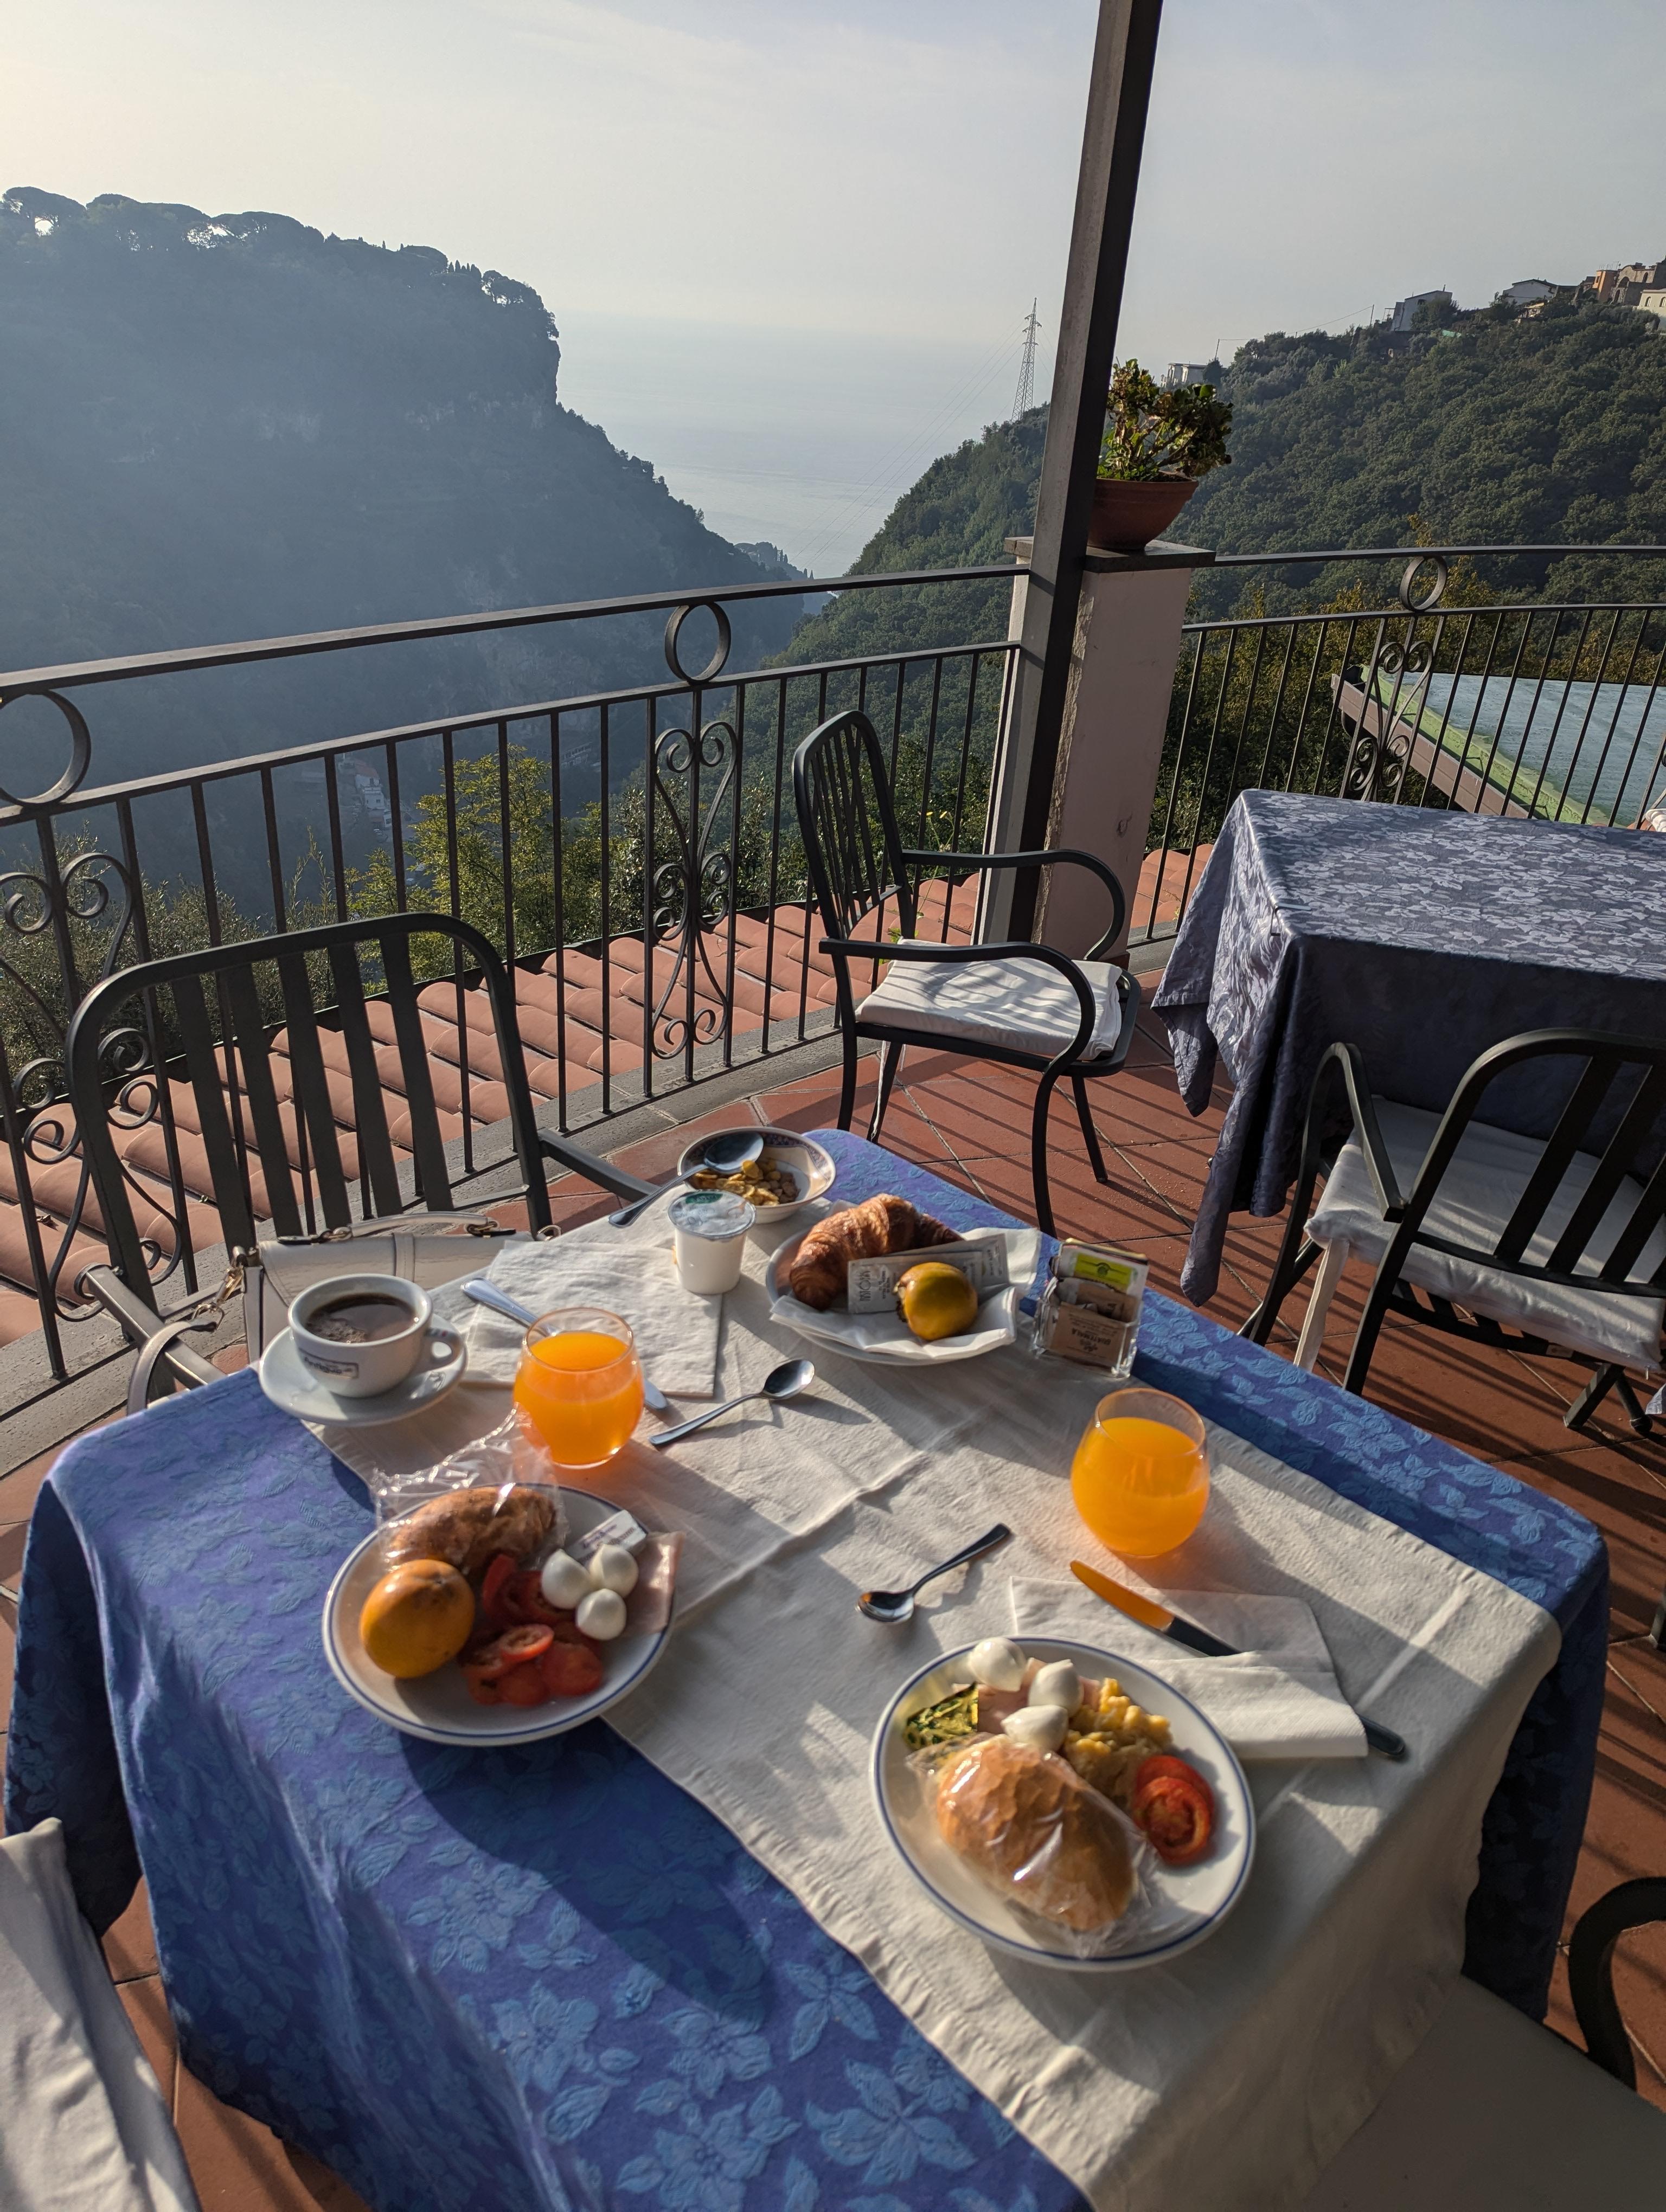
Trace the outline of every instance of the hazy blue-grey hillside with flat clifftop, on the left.
<path fill-rule="evenodd" d="M 529 285 L 431 248 L 7 192 L 0 666 L 757 580 L 558 365 Z M 746 611 L 737 648 L 790 619 Z M 662 626 L 104 688 L 91 781 L 664 679 Z"/>

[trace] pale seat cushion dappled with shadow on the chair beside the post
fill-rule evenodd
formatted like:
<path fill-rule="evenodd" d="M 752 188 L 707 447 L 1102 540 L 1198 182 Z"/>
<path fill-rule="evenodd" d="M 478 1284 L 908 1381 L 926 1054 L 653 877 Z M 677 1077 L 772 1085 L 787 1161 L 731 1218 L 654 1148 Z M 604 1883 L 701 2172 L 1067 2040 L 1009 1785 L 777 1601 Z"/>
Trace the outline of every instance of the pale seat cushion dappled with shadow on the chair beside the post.
<path fill-rule="evenodd" d="M 931 945 L 931 938 L 900 938 Z M 1077 960 L 1097 1020 L 1084 1057 L 1104 1060 L 1122 1035 L 1122 969 Z M 876 1029 L 925 1029 L 958 1044 L 998 1044 L 1053 1060 L 1082 1026 L 1082 1006 L 1064 978 L 1040 960 L 892 960 L 885 980 L 856 1009 Z"/>

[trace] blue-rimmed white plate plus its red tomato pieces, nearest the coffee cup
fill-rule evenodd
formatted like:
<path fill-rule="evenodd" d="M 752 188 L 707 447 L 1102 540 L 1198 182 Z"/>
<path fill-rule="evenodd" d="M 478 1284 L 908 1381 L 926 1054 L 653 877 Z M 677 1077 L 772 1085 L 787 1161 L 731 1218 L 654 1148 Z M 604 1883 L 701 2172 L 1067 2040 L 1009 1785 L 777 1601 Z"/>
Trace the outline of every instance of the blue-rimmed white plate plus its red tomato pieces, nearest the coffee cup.
<path fill-rule="evenodd" d="M 586 1535 L 617 1502 L 562 1489 L 566 1535 Z M 358 1637 L 365 1599 L 383 1575 L 385 1531 L 352 1551 L 323 1601 L 323 1652 L 341 1688 L 378 1721 L 427 1743 L 538 1743 L 582 1728 L 644 1679 L 670 1624 L 595 1641 L 571 1613 L 544 1604 L 538 1575 L 491 1559 L 476 1593 L 476 1632 L 458 1659 L 431 1674 L 398 1679 L 372 1666 Z"/>

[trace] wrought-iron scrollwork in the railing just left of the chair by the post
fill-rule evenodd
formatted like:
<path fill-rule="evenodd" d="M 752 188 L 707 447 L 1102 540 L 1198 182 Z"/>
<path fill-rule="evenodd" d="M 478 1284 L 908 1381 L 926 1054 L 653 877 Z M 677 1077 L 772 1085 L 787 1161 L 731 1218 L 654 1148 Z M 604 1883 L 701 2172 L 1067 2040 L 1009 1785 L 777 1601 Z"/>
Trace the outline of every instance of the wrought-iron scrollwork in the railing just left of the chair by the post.
<path fill-rule="evenodd" d="M 653 1051 L 659 1060 L 712 1044 L 730 1022 L 728 991 L 712 967 L 708 931 L 735 900 L 732 843 L 721 843 L 739 803 L 741 741 L 728 721 L 708 721 L 699 739 L 666 730 L 653 750 L 648 807 L 648 936 L 673 956 L 664 989 L 653 998 Z M 670 827 L 673 852 L 657 860 L 657 823 Z M 701 989 L 701 971 L 706 987 Z M 668 1011 L 681 1000 L 681 1011 Z M 701 1004 L 701 1000 L 706 1000 Z"/>

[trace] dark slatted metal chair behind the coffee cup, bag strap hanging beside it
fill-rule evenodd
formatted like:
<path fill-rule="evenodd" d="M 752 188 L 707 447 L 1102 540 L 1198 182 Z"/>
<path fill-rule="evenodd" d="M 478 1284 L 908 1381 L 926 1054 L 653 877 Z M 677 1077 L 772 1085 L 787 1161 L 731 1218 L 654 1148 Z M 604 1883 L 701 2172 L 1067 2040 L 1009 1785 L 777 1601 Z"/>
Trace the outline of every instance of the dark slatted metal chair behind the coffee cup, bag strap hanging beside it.
<path fill-rule="evenodd" d="M 414 938 L 442 938 L 451 953 L 465 1126 L 471 1095 L 500 1084 L 507 1097 L 511 1152 L 489 1148 L 487 1166 L 449 1157 L 412 967 Z M 381 971 L 381 993 L 367 995 L 365 962 Z M 465 991 L 471 973 L 480 975 L 491 1013 L 496 1051 L 482 1055 L 496 1062 L 491 1075 L 469 1066 L 485 1044 L 471 1040 L 467 1022 L 469 1004 L 478 1004 L 476 991 Z M 314 1006 L 314 980 L 327 980 L 334 995 L 327 1024 Z M 279 1006 L 283 1037 L 274 1051 Z M 383 1042 L 389 1031 L 392 1042 Z M 88 1267 L 82 1287 L 131 1343 L 153 1345 L 153 1358 L 184 1385 L 217 1378 L 215 1367 L 177 1340 L 204 1301 L 159 1312 L 153 1263 L 166 1254 L 155 1239 L 142 1239 L 133 1210 L 137 1192 L 148 1214 L 159 1210 L 173 1223 L 177 1263 L 190 1232 L 184 1150 L 201 1146 L 197 1175 L 208 1183 L 204 1194 L 219 1212 L 228 1254 L 257 1243 L 259 1221 L 270 1221 L 270 1234 L 281 1239 L 392 1214 L 409 1214 L 412 1228 L 420 1228 L 423 1214 L 451 1212 L 456 1186 L 471 1179 L 487 1179 L 482 1203 L 524 1203 L 529 1225 L 549 1228 L 549 1164 L 622 1199 L 650 1190 L 624 1168 L 538 1128 L 504 964 L 478 929 L 449 914 L 327 922 L 119 969 L 77 1006 L 66 1062 L 82 1157 L 111 1250 L 111 1265 Z M 336 1093 L 345 1093 L 352 1128 L 336 1115 L 332 1077 Z M 400 1110 L 389 1113 L 389 1102 Z M 159 1137 L 159 1146 L 150 1144 L 157 1166 L 144 1181 L 117 1150 L 117 1130 L 128 1141 Z M 173 1329 L 166 1345 L 157 1343 L 162 1323 Z"/>

